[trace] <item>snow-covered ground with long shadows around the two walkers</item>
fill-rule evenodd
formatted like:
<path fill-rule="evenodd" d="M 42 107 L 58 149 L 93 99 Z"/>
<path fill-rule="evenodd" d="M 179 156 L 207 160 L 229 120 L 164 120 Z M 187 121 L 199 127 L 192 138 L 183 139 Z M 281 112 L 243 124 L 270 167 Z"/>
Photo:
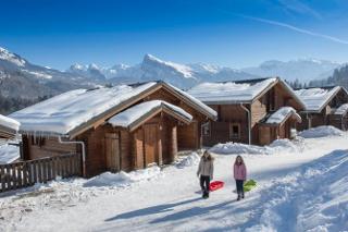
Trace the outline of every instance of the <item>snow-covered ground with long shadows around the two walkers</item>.
<path fill-rule="evenodd" d="M 3 194 L 0 231 L 345 231 L 347 138 L 328 133 L 268 147 L 216 145 L 214 178 L 225 187 L 209 199 L 198 192 L 196 152 L 162 170 L 60 180 Z M 233 192 L 237 154 L 258 182 L 241 202 Z"/>

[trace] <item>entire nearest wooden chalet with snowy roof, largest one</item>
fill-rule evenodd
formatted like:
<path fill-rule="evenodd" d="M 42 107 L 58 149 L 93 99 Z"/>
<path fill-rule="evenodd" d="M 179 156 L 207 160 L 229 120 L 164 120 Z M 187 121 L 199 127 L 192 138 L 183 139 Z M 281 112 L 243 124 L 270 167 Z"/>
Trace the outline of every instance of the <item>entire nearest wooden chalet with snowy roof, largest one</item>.
<path fill-rule="evenodd" d="M 80 152 L 83 172 L 142 169 L 201 147 L 201 125 L 216 112 L 164 82 L 77 89 L 12 114 L 23 158 Z"/>

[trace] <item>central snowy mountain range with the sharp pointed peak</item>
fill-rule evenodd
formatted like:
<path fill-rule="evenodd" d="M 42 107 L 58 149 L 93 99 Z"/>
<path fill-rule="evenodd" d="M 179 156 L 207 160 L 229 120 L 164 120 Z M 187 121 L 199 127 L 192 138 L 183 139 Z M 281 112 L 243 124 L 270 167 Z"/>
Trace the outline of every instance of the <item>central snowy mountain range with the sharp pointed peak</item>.
<path fill-rule="evenodd" d="M 142 62 L 135 65 L 116 64 L 112 68 L 99 68 L 100 73 L 114 84 L 162 80 L 181 88 L 188 88 L 201 82 L 236 81 L 259 77 L 239 70 L 212 64 L 179 64 L 163 61 L 152 54 L 146 54 Z M 87 65 L 72 65 L 67 72 L 92 78 Z M 100 78 L 98 78 L 100 80 Z"/>

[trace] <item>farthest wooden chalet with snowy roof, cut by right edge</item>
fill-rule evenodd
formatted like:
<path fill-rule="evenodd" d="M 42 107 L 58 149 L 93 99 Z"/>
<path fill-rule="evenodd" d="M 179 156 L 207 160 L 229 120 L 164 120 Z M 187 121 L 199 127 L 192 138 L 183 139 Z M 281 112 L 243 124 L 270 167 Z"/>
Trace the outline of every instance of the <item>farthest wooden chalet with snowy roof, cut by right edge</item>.
<path fill-rule="evenodd" d="M 348 93 L 340 86 L 297 89 L 296 94 L 306 105 L 300 112 L 302 123 L 298 130 L 320 125 L 333 125 L 346 131 L 348 129 Z"/>

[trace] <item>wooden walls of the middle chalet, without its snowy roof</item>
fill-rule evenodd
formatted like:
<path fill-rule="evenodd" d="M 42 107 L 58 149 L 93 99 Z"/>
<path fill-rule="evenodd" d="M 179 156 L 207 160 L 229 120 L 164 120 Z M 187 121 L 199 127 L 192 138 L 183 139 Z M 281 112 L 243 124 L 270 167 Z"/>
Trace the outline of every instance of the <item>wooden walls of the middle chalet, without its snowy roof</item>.
<path fill-rule="evenodd" d="M 213 146 L 217 143 L 249 143 L 249 117 L 250 117 L 250 144 L 270 144 L 277 137 L 290 138 L 288 131 L 295 122 L 282 125 L 279 133 L 273 133 L 273 127 L 262 125 L 262 121 L 282 107 L 289 106 L 295 110 L 302 110 L 302 103 L 294 97 L 279 81 L 266 88 L 251 102 L 209 105 L 217 112 L 217 120 L 211 122 L 203 133 L 203 145 Z M 291 121 L 291 120 L 290 120 Z M 286 129 L 285 129 L 286 127 Z M 261 133 L 262 131 L 262 133 Z M 285 133 L 286 132 L 286 133 Z M 265 136 L 265 137 L 262 137 Z"/>

